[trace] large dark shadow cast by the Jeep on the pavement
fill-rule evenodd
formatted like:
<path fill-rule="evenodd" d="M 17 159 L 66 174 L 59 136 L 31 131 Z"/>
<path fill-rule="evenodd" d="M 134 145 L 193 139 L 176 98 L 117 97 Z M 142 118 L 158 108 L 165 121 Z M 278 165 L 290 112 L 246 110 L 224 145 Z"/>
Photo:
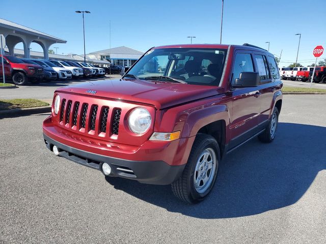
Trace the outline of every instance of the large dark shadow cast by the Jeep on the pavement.
<path fill-rule="evenodd" d="M 227 156 L 205 201 L 188 205 L 170 186 L 153 186 L 115 177 L 106 180 L 146 202 L 203 219 L 257 215 L 298 201 L 317 173 L 326 169 L 326 127 L 280 123 L 273 143 L 253 139 Z"/>

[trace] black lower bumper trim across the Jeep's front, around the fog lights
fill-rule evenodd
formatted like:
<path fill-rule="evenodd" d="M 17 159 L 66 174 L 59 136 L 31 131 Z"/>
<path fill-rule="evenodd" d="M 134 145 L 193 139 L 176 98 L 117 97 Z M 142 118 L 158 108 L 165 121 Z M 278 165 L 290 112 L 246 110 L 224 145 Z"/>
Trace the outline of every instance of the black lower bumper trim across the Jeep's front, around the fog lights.
<path fill-rule="evenodd" d="M 62 144 L 46 136 L 44 133 L 43 137 L 48 149 L 52 150 L 53 145 L 60 148 L 61 151 L 59 155 L 61 157 L 100 171 L 102 164 L 107 163 L 112 168 L 112 172 L 109 176 L 134 179 L 145 184 L 169 185 L 181 176 L 185 166 L 171 166 L 164 161 L 131 161 L 93 154 Z M 117 168 L 130 169 L 133 173 L 121 171 Z"/>

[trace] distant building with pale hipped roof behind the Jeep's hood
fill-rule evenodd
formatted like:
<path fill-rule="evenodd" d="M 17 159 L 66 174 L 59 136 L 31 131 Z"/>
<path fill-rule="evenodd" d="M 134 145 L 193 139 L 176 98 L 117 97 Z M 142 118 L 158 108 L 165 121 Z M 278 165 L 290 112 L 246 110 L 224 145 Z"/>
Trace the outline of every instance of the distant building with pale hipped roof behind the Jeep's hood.
<path fill-rule="evenodd" d="M 131 66 L 137 59 L 139 59 L 144 53 L 138 50 L 134 50 L 130 47 L 115 47 L 105 49 L 101 51 L 95 51 L 86 54 L 87 58 L 95 60 L 107 60 L 113 65 Z"/>

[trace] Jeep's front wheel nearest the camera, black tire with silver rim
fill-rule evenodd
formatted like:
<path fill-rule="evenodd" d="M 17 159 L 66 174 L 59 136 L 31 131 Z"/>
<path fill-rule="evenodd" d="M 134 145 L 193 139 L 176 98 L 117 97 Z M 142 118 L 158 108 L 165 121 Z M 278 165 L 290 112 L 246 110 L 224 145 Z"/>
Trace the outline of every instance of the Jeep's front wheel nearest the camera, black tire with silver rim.
<path fill-rule="evenodd" d="M 220 159 L 215 138 L 198 134 L 182 175 L 171 185 L 174 195 L 187 203 L 202 201 L 215 184 Z"/>

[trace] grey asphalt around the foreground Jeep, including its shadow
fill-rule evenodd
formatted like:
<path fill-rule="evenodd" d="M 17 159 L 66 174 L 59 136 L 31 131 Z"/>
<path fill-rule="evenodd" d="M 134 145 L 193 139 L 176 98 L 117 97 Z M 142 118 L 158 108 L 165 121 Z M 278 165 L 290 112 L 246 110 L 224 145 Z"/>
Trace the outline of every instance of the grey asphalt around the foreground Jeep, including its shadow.
<path fill-rule="evenodd" d="M 1 243 L 326 243 L 326 95 L 285 95 L 275 141 L 227 156 L 197 205 L 56 157 L 46 116 L 0 119 Z"/>

